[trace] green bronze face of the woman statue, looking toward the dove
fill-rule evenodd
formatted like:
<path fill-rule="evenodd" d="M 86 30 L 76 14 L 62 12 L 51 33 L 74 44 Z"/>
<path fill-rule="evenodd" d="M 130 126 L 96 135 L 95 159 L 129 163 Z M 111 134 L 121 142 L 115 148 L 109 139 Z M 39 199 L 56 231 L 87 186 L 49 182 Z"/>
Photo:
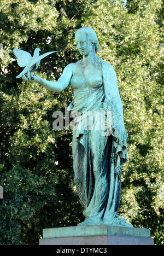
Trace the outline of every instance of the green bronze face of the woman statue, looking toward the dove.
<path fill-rule="evenodd" d="M 90 40 L 83 32 L 75 34 L 75 42 L 81 55 L 89 55 L 90 51 L 93 49 Z"/>

